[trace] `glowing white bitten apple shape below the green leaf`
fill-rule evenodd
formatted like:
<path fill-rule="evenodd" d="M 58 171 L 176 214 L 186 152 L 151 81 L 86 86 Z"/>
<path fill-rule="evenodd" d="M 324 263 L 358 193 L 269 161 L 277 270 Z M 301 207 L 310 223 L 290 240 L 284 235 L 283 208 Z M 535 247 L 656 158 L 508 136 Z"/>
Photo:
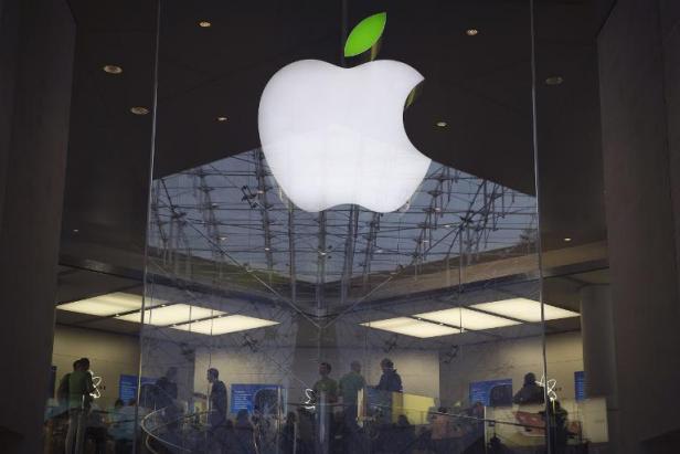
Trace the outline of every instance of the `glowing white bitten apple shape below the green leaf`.
<path fill-rule="evenodd" d="M 408 140 L 404 104 L 423 76 L 379 60 L 343 68 L 301 60 L 279 70 L 259 101 L 262 148 L 300 209 L 342 203 L 386 213 L 408 201 L 431 160 Z"/>

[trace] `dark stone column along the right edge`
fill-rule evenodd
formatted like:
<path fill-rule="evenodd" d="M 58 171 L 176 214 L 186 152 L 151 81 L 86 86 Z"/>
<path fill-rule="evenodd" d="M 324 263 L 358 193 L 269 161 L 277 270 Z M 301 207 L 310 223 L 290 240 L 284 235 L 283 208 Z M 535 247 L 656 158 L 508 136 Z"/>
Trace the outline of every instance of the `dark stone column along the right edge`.
<path fill-rule="evenodd" d="M 680 433 L 678 3 L 619 0 L 598 36 L 621 454 Z"/>

